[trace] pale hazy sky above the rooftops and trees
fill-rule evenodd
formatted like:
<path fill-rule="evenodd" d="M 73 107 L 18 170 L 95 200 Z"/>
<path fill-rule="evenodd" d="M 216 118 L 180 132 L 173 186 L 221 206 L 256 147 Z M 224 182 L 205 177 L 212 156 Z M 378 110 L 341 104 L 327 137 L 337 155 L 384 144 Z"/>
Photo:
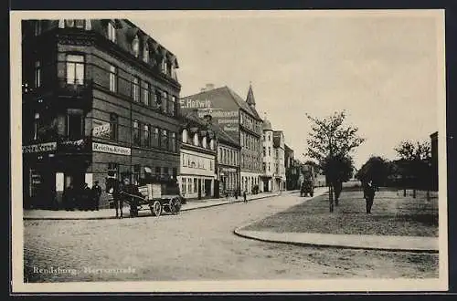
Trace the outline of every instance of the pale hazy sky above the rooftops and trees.
<path fill-rule="evenodd" d="M 395 12 L 167 12 L 129 18 L 178 59 L 181 97 L 207 83 L 243 99 L 250 82 L 260 116 L 283 130 L 295 158 L 311 124 L 345 109 L 370 155 L 396 159 L 401 140 L 439 129 L 436 17 Z M 266 114 L 266 115 L 264 115 Z"/>

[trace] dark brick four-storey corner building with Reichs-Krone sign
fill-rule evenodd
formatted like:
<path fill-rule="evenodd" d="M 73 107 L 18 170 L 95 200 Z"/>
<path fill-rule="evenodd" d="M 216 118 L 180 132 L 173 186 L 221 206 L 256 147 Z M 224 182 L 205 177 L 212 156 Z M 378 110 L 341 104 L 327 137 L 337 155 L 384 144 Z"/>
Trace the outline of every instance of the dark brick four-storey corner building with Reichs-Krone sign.
<path fill-rule="evenodd" d="M 61 208 L 72 183 L 108 171 L 175 181 L 180 131 L 175 55 L 126 19 L 22 24 L 27 207 Z M 108 205 L 103 192 L 101 208 Z"/>

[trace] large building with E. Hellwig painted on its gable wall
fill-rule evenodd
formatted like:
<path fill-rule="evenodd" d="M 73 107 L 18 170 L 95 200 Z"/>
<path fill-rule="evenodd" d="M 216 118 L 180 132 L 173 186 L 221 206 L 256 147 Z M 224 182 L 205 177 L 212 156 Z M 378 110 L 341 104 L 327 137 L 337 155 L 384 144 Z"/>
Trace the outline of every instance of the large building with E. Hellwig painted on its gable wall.
<path fill-rule="evenodd" d="M 233 140 L 239 142 L 239 189 L 252 192 L 260 183 L 262 119 L 255 109 L 255 99 L 250 86 L 246 101 L 228 87 L 212 85 L 200 93 L 180 99 L 180 109 L 197 109 L 199 116 L 210 115 L 215 124 Z"/>

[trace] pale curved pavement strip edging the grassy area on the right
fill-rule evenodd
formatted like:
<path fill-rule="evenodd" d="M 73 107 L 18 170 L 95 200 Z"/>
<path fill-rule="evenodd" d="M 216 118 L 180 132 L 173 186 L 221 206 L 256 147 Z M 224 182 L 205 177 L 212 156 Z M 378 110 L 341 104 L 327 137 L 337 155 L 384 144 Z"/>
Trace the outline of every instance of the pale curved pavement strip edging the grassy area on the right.
<path fill-rule="evenodd" d="M 235 229 L 234 232 L 241 237 L 268 243 L 436 254 L 439 251 L 437 237 L 310 233 L 280 234 L 266 231 L 243 231 L 240 230 L 240 227 Z"/>

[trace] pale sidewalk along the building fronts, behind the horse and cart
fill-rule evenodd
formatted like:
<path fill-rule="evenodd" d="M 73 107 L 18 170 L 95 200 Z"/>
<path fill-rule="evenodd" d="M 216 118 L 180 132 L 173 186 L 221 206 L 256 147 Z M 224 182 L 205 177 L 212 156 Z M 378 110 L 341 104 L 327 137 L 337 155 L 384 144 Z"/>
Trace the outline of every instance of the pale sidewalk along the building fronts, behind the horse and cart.
<path fill-rule="evenodd" d="M 282 192 L 289 193 L 289 192 Z M 247 196 L 248 201 L 260 200 L 264 198 L 270 198 L 273 196 L 281 195 L 280 192 L 262 192 L 258 194 L 250 194 Z M 219 198 L 219 199 L 207 199 L 197 201 L 187 201 L 182 205 L 181 211 L 195 210 L 199 208 L 208 208 L 214 206 L 220 206 L 228 203 L 243 202 L 243 198 L 239 197 L 236 200 L 234 197 L 230 198 Z M 102 220 L 102 219 L 113 219 L 115 218 L 114 209 L 101 209 L 99 211 L 65 211 L 65 210 L 24 210 L 24 220 Z M 123 217 L 130 216 L 130 207 L 124 206 Z M 141 216 L 151 216 L 149 209 L 140 211 L 138 214 Z"/>

